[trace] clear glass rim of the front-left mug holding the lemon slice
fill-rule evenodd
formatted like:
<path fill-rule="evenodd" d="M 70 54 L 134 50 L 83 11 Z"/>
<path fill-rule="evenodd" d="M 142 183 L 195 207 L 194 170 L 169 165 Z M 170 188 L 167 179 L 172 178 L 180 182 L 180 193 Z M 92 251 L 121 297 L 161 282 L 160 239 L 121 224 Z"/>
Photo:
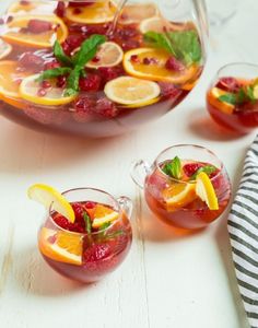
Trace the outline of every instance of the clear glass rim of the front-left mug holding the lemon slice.
<path fill-rule="evenodd" d="M 66 196 L 68 192 L 73 192 L 73 191 L 85 191 L 85 190 L 91 190 L 91 191 L 96 191 L 96 192 L 101 192 L 101 194 L 104 194 L 104 195 L 106 195 L 107 197 L 109 197 L 114 202 L 115 202 L 115 204 L 116 204 L 116 207 L 117 207 L 117 209 L 118 209 L 118 219 L 117 220 L 114 220 L 113 222 L 112 222 L 112 224 L 109 225 L 109 226 L 107 226 L 106 229 L 103 229 L 103 230 L 101 230 L 101 231 L 98 231 L 98 232 L 93 232 L 93 233 L 91 233 L 91 234 L 89 234 L 89 233 L 86 233 L 86 232 L 83 232 L 83 233 L 80 233 L 80 232 L 74 232 L 74 231 L 69 231 L 69 230 L 66 230 L 66 229 L 63 229 L 63 227 L 61 227 L 60 225 L 58 225 L 55 221 L 54 221 L 54 219 L 52 219 L 52 216 L 51 216 L 51 212 L 52 212 L 52 209 L 51 209 L 51 207 L 52 207 L 52 203 L 49 206 L 49 209 L 48 209 L 48 220 L 50 220 L 51 221 L 51 223 L 58 229 L 58 230 L 60 230 L 60 231 L 63 231 L 63 232 L 66 232 L 66 233 L 68 233 L 68 234 L 74 234 L 74 235 L 81 235 L 81 236 L 89 236 L 89 235 L 93 235 L 93 236 L 96 236 L 96 235 L 98 235 L 99 233 L 103 233 L 103 232 L 106 232 L 106 231 L 108 231 L 109 229 L 112 229 L 114 225 L 115 225 L 115 223 L 117 223 L 117 222 L 119 222 L 120 220 L 121 220 L 121 207 L 120 207 L 120 204 L 119 204 L 119 202 L 117 201 L 117 199 L 113 196 L 113 195 L 110 195 L 109 192 L 107 192 L 107 191 L 105 191 L 105 190 L 102 190 L 102 189 L 98 189 L 98 188 L 93 188 L 93 187 L 79 187 L 79 188 L 72 188 L 72 189 L 68 189 L 68 190 L 64 190 L 64 191 L 62 191 L 61 192 L 61 195 L 62 196 Z M 87 200 L 85 200 L 85 201 L 87 201 Z M 89 200 L 89 201 L 91 201 L 91 200 Z M 79 201 L 78 201 L 79 202 Z M 70 201 L 69 201 L 69 203 L 70 203 Z"/>

